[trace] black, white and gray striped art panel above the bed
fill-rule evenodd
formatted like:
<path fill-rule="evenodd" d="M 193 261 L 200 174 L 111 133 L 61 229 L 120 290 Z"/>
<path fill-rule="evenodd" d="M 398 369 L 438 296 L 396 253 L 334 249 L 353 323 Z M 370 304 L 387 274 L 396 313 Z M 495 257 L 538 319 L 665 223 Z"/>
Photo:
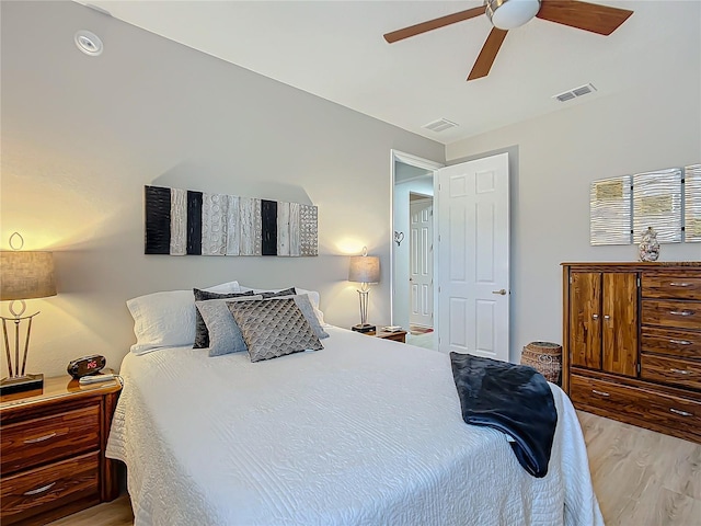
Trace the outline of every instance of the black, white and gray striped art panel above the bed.
<path fill-rule="evenodd" d="M 146 254 L 319 254 L 313 205 L 148 185 L 143 197 Z"/>

